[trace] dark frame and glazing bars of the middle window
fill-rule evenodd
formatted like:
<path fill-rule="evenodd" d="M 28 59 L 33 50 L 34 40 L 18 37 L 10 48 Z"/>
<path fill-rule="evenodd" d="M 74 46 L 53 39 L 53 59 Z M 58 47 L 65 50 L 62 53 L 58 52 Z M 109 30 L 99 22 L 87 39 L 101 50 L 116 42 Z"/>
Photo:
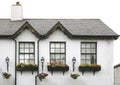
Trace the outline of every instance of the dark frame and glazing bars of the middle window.
<path fill-rule="evenodd" d="M 54 44 L 57 44 L 57 43 L 59 43 L 59 44 L 61 44 L 61 43 L 63 43 L 64 44 L 64 53 L 51 53 L 51 43 L 54 43 Z M 54 48 L 55 49 L 55 48 Z M 60 49 L 61 49 L 61 47 L 60 47 Z M 50 63 L 51 63 L 51 54 L 59 54 L 59 55 L 61 55 L 61 54 L 64 54 L 65 55 L 65 57 L 64 57 L 64 64 L 66 64 L 66 42 L 50 42 L 49 43 L 49 53 L 50 53 Z M 56 60 L 56 59 L 54 59 L 54 60 Z M 57 59 L 57 60 L 62 60 L 62 59 Z"/>

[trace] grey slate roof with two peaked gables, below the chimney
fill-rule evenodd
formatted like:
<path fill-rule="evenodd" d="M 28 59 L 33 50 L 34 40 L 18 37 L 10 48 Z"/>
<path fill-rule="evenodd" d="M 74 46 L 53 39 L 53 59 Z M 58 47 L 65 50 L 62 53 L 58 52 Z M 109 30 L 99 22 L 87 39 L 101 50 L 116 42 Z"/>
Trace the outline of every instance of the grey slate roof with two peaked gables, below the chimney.
<path fill-rule="evenodd" d="M 118 38 L 118 34 L 100 19 L 24 19 L 22 21 L 0 19 L 0 36 L 14 35 L 26 22 L 40 35 L 46 35 L 59 22 L 73 36 Z"/>

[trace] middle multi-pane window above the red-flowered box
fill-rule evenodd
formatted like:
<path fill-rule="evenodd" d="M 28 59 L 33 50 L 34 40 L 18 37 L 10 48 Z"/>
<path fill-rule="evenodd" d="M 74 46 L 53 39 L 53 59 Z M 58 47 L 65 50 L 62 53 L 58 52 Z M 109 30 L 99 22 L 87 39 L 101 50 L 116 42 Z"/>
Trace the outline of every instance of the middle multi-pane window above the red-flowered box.
<path fill-rule="evenodd" d="M 50 42 L 50 62 L 60 62 L 65 64 L 66 58 L 66 43 L 65 42 Z"/>

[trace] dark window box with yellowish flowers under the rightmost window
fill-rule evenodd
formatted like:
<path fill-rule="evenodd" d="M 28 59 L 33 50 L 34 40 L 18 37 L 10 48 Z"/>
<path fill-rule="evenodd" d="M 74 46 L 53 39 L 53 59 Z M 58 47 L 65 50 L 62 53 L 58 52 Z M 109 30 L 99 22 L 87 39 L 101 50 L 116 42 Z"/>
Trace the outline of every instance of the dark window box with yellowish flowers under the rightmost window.
<path fill-rule="evenodd" d="M 97 64 L 81 64 L 79 66 L 79 71 L 82 71 L 82 74 L 84 73 L 84 71 L 93 71 L 93 73 L 95 74 L 96 71 L 100 71 L 101 70 L 101 65 L 97 65 Z"/>

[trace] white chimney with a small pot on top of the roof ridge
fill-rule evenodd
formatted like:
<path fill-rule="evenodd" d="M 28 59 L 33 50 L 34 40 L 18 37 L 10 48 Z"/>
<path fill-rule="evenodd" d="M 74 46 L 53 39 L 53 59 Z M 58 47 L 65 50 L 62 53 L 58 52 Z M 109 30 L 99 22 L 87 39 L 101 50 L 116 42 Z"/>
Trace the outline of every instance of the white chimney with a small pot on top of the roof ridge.
<path fill-rule="evenodd" d="M 11 20 L 23 20 L 23 9 L 19 2 L 11 6 Z"/>

